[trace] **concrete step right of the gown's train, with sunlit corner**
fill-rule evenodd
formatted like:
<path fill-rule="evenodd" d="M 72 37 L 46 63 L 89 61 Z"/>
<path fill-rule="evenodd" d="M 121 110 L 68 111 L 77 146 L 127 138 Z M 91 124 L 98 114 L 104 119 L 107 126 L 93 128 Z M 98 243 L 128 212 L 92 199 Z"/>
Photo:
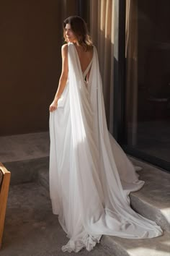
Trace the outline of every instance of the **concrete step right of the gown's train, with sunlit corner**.
<path fill-rule="evenodd" d="M 130 160 L 143 168 L 138 174 L 146 182 L 142 189 L 130 193 L 132 208 L 170 232 L 170 174 L 138 159 Z"/>

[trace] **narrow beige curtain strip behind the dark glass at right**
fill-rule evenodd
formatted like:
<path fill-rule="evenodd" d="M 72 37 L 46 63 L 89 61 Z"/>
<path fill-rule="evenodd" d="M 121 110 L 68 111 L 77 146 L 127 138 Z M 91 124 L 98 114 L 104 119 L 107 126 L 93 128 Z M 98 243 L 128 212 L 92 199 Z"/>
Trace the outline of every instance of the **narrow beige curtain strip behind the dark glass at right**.
<path fill-rule="evenodd" d="M 138 0 L 126 0 L 126 124 L 128 145 L 135 145 L 138 122 Z"/>

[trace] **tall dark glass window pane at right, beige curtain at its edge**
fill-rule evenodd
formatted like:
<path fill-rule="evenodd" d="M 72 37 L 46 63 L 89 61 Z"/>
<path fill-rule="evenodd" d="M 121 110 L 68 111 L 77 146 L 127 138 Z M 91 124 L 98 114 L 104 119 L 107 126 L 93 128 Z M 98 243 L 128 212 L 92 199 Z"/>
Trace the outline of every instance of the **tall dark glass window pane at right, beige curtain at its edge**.
<path fill-rule="evenodd" d="M 170 1 L 126 1 L 125 142 L 170 162 Z"/>

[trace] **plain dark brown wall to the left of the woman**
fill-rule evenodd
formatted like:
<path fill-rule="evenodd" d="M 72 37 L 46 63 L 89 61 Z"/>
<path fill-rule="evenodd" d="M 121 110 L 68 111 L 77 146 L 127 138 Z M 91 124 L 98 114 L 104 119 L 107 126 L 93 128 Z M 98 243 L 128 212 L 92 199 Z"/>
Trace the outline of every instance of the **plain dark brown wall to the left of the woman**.
<path fill-rule="evenodd" d="M 1 1 L 0 136 L 48 130 L 61 74 L 63 2 Z M 70 10 L 75 14 L 73 3 Z"/>

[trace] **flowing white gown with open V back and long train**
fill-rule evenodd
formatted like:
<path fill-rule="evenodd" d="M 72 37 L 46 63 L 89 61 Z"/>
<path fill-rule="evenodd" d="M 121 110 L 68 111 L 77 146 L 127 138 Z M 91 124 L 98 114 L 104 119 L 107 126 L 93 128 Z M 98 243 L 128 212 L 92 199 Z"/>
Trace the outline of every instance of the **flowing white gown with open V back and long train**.
<path fill-rule="evenodd" d="M 143 184 L 108 132 L 95 46 L 83 74 L 76 47 L 68 43 L 68 81 L 57 110 L 50 113 L 50 199 L 69 238 L 62 250 L 90 251 L 102 234 L 160 236 L 156 222 L 130 208 L 130 192 Z"/>

